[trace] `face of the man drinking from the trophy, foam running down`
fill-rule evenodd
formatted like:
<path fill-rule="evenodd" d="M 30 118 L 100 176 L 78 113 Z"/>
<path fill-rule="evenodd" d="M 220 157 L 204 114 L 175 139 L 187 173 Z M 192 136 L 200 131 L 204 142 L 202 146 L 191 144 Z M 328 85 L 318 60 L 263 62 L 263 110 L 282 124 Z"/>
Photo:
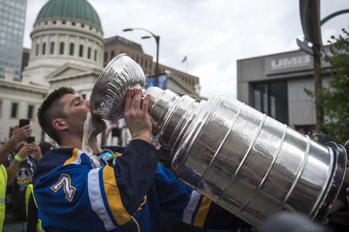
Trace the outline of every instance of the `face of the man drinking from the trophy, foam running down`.
<path fill-rule="evenodd" d="M 90 111 L 89 100 L 84 100 L 74 94 L 65 94 L 60 101 L 64 104 L 63 111 L 69 133 L 82 137 L 84 135 L 84 122 L 87 113 Z M 92 134 L 98 135 L 105 129 L 105 122 L 94 116 L 92 120 L 95 128 Z"/>

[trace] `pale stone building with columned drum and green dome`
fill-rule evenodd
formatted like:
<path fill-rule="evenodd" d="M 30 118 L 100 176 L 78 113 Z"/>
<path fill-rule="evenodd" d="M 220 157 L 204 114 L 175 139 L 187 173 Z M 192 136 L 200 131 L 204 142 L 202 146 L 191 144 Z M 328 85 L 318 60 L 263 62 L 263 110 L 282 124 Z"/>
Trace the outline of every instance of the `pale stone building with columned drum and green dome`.
<path fill-rule="evenodd" d="M 103 70 L 103 29 L 86 0 L 49 0 L 30 34 L 32 46 L 22 81 L 0 78 L 0 142 L 21 118 L 30 119 L 36 142 L 51 141 L 37 123 L 36 111 L 53 89 L 69 86 L 88 99 Z"/>

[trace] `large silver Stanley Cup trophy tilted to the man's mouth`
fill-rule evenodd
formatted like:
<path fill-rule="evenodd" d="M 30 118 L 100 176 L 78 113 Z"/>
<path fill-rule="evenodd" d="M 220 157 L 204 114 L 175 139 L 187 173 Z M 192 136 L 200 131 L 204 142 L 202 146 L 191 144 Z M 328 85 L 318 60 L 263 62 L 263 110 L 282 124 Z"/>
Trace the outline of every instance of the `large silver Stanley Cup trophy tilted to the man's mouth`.
<path fill-rule="evenodd" d="M 126 91 L 144 85 L 142 68 L 118 55 L 95 83 L 92 114 L 123 118 Z M 257 227 L 281 210 L 326 217 L 344 178 L 343 146 L 320 145 L 226 95 L 198 102 L 158 87 L 143 93 L 153 135 L 171 149 L 172 172 L 186 185 Z"/>

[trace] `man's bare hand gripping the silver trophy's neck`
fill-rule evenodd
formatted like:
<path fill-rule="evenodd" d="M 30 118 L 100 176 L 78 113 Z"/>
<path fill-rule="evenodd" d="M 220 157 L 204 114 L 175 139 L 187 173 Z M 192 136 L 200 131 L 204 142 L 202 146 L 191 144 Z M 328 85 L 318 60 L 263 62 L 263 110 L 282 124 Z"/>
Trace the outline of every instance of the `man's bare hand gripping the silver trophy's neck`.
<path fill-rule="evenodd" d="M 132 98 L 132 95 L 135 95 Z M 142 139 L 150 142 L 152 124 L 148 114 L 150 96 L 147 95 L 142 101 L 142 90 L 128 90 L 125 101 L 124 117 L 130 130 L 132 139 Z"/>

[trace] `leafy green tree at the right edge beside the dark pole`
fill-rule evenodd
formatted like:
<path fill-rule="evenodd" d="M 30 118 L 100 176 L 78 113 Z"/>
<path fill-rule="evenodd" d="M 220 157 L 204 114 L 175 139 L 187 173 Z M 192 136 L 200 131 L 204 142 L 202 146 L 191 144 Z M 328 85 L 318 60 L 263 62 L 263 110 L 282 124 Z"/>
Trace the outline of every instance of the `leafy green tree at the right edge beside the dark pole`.
<path fill-rule="evenodd" d="M 343 35 L 337 38 L 331 36 L 329 54 L 322 57 L 331 65 L 330 69 L 321 69 L 331 76 L 328 88 L 322 87 L 317 94 L 305 92 L 315 96 L 324 110 L 325 122 L 319 124 L 321 132 L 344 144 L 349 139 L 349 32 L 342 31 Z"/>

